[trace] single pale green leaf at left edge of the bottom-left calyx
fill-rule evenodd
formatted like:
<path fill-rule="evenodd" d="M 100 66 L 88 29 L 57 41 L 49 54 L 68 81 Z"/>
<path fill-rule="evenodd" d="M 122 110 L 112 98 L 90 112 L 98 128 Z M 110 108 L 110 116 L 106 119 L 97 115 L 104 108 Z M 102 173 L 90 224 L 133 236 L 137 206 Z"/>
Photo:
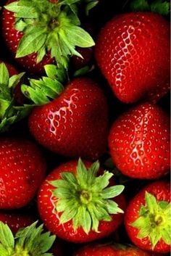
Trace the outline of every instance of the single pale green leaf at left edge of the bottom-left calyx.
<path fill-rule="evenodd" d="M 0 243 L 4 247 L 14 248 L 14 236 L 7 224 L 0 222 Z"/>

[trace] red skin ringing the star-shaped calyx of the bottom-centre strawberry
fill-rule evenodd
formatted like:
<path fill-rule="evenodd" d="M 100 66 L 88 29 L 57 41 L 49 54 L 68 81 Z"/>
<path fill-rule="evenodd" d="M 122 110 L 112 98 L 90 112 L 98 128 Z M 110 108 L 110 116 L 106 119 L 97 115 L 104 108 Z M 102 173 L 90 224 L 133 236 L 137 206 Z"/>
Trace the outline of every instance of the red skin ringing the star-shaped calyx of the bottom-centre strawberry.
<path fill-rule="evenodd" d="M 86 167 L 91 166 L 91 162 L 84 162 Z M 112 234 L 120 223 L 122 223 L 122 214 L 112 215 L 111 221 L 100 221 L 99 222 L 99 233 L 91 230 L 88 234 L 83 231 L 83 228 L 78 228 L 75 232 L 72 227 L 72 220 L 62 225 L 59 224 L 59 216 L 61 212 L 55 210 L 55 203 L 57 197 L 53 197 L 51 189 L 54 187 L 49 184 L 49 181 L 55 181 L 61 178 L 62 172 L 76 173 L 77 161 L 70 161 L 67 164 L 60 165 L 59 168 L 55 169 L 46 180 L 42 183 L 38 193 L 38 210 L 45 224 L 46 228 L 49 229 L 53 234 L 56 234 L 61 239 L 73 242 L 73 243 L 84 243 L 88 241 L 94 241 L 102 237 L 107 237 Z M 118 197 L 114 197 L 114 202 L 117 202 L 122 210 L 125 210 L 125 198 L 122 194 Z"/>

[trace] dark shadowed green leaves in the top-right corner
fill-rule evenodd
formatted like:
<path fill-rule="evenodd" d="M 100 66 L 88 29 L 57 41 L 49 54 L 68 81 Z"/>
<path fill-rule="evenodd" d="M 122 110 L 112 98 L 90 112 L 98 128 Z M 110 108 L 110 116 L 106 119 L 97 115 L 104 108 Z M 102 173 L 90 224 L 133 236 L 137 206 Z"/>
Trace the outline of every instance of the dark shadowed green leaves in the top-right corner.
<path fill-rule="evenodd" d="M 170 13 L 170 2 L 162 0 L 133 0 L 130 2 L 130 9 L 133 12 L 156 12 L 159 15 L 167 16 Z"/>

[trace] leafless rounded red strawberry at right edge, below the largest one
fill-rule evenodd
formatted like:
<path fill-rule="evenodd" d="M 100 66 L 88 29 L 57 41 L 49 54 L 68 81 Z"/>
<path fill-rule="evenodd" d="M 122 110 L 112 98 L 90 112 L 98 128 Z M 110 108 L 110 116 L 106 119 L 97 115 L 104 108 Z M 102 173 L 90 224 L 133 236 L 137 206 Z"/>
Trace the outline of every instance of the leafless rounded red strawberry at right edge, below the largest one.
<path fill-rule="evenodd" d="M 115 120 L 109 149 L 117 168 L 132 178 L 160 178 L 170 170 L 170 118 L 160 107 L 139 104 Z"/>

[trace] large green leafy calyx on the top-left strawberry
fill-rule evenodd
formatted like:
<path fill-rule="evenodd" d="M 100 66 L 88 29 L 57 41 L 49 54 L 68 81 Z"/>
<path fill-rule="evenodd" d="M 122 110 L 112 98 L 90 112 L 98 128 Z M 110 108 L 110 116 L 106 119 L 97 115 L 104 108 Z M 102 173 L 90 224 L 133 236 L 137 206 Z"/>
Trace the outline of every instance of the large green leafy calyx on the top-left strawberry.
<path fill-rule="evenodd" d="M 81 0 L 19 0 L 4 8 L 14 12 L 14 28 L 23 36 L 17 47 L 16 57 L 37 53 L 37 63 L 47 53 L 57 63 L 68 66 L 69 56 L 82 57 L 75 46 L 91 47 L 94 41 L 80 28 L 78 6 Z"/>

